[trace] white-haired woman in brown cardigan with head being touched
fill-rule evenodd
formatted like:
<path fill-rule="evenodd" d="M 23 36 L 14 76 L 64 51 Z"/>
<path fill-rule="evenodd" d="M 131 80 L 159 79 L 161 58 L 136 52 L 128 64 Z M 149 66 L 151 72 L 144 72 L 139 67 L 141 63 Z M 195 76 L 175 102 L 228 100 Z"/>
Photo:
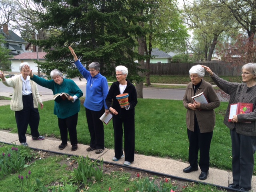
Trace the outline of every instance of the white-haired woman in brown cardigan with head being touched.
<path fill-rule="evenodd" d="M 186 88 L 183 105 L 187 110 L 186 123 L 189 140 L 188 162 L 190 166 L 183 172 L 190 173 L 198 170 L 198 150 L 200 150 L 199 167 L 200 180 L 207 179 L 210 166 L 210 144 L 215 125 L 214 109 L 220 106 L 220 100 L 212 85 L 204 81 L 204 68 L 201 65 L 192 66 L 189 70 L 191 82 Z M 208 102 L 196 102 L 192 99 L 203 92 Z"/>

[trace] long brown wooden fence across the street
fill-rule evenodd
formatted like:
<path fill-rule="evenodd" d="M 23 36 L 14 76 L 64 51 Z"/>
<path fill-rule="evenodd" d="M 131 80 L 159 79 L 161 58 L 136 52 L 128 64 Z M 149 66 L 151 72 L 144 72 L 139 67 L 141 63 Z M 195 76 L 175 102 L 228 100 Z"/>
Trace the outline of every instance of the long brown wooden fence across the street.
<path fill-rule="evenodd" d="M 151 75 L 188 75 L 188 71 L 194 65 L 206 65 L 218 76 L 236 76 L 237 70 L 231 67 L 231 63 L 225 62 L 200 62 L 200 63 L 150 63 Z M 146 66 L 146 64 L 145 64 Z M 144 67 L 145 67 L 144 66 Z M 207 72 L 206 72 L 207 73 Z"/>

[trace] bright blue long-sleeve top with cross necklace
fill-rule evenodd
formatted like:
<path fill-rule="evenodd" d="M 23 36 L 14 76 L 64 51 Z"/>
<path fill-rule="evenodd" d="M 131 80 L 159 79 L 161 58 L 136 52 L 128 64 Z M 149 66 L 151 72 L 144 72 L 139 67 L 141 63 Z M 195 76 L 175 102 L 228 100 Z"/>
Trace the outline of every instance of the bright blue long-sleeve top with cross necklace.
<path fill-rule="evenodd" d="M 87 80 L 84 107 L 93 111 L 100 111 L 104 105 L 104 108 L 108 109 L 105 101 L 108 95 L 108 81 L 106 77 L 100 73 L 92 77 L 79 60 L 75 62 L 75 65 Z"/>

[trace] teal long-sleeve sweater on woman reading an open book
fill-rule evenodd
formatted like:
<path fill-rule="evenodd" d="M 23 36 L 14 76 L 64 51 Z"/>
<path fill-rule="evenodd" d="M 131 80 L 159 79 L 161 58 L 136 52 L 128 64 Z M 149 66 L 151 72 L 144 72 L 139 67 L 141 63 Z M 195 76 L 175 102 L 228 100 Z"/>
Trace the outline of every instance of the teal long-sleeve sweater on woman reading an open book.
<path fill-rule="evenodd" d="M 63 79 L 62 84 L 57 84 L 54 80 L 45 80 L 36 75 L 33 78 L 30 78 L 38 85 L 51 89 L 53 94 L 57 93 L 68 93 L 70 96 L 76 95 L 78 98 L 83 96 L 83 92 L 76 85 L 76 83 L 71 79 Z M 54 115 L 57 115 L 58 118 L 65 119 L 68 118 L 80 111 L 80 100 L 72 102 L 69 100 L 63 100 L 60 103 L 54 102 Z"/>

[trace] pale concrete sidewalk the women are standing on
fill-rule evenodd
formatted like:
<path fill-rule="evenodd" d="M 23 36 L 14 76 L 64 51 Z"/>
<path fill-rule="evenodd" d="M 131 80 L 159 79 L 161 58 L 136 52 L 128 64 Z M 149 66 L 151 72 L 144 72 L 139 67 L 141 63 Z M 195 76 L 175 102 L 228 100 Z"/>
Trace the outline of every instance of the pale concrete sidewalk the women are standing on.
<path fill-rule="evenodd" d="M 5 92 L 1 93 L 1 96 L 11 97 L 11 93 Z M 42 95 L 43 101 L 52 100 L 52 95 Z M 10 104 L 10 100 L 0 100 L 1 105 Z M 20 145 L 18 141 L 18 134 L 13 134 L 8 131 L 0 130 L 0 142 L 6 142 L 10 144 Z M 114 141 L 113 141 L 114 142 Z M 27 143 L 29 147 L 36 148 L 38 150 L 48 150 L 63 154 L 70 155 L 82 155 L 88 156 L 93 159 L 104 159 L 104 162 L 111 162 L 116 164 L 124 164 L 124 158 L 120 159 L 117 162 L 113 162 L 112 158 L 114 157 L 113 149 L 105 149 L 102 154 L 95 154 L 95 151 L 87 152 L 86 148 L 89 147 L 87 145 L 78 144 L 78 150 L 71 151 L 71 145 L 68 143 L 68 146 L 64 150 L 59 150 L 58 146 L 61 143 L 60 140 L 46 137 L 45 140 L 42 141 L 34 141 L 31 140 L 31 136 L 27 136 Z M 200 169 L 191 173 L 184 173 L 182 170 L 189 166 L 188 163 L 180 162 L 178 160 L 172 160 L 170 158 L 159 158 L 153 156 L 144 156 L 140 154 L 135 154 L 134 162 L 130 165 L 130 167 L 140 168 L 143 170 L 150 170 L 151 172 L 158 172 L 162 174 L 167 174 L 170 176 L 185 178 L 192 181 L 199 181 L 208 184 L 213 184 L 216 186 L 227 187 L 228 184 L 232 183 L 232 172 L 226 170 L 220 170 L 217 168 L 210 168 L 209 175 L 206 180 L 199 180 L 198 176 L 200 175 Z M 256 176 L 252 177 L 252 190 L 256 191 Z"/>

